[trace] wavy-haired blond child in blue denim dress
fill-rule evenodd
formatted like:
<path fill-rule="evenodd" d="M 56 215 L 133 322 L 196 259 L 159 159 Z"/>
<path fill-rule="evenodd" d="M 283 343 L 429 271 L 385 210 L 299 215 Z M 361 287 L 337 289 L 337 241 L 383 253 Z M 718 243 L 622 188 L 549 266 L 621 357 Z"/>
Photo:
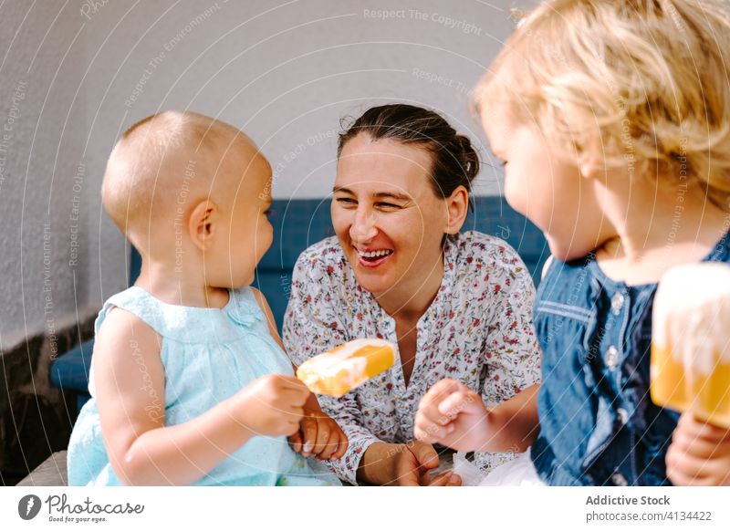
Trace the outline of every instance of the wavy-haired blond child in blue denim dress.
<path fill-rule="evenodd" d="M 535 305 L 539 435 L 529 407 L 500 424 L 446 380 L 417 436 L 534 439 L 547 484 L 730 484 L 730 432 L 649 395 L 657 282 L 730 262 L 729 69 L 719 1 L 548 0 L 517 26 L 476 100 L 506 199 L 553 255 Z"/>

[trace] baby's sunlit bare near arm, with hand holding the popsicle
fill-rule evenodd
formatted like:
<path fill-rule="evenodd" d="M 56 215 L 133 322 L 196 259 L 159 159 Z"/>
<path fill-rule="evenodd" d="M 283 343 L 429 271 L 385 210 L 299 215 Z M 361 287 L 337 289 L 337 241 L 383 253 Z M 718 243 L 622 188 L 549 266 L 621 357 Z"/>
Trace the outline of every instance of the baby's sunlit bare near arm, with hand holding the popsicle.
<path fill-rule="evenodd" d="M 292 377 L 255 380 L 189 422 L 164 425 L 161 339 L 140 318 L 110 311 L 94 349 L 101 432 L 125 484 L 192 484 L 256 434 L 297 431 L 309 392 Z"/>

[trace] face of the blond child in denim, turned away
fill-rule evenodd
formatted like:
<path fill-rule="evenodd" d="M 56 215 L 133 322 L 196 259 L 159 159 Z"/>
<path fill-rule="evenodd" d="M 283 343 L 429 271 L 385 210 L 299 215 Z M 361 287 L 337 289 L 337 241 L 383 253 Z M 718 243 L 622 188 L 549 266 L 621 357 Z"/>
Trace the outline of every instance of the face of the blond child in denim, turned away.
<path fill-rule="evenodd" d="M 505 110 L 485 109 L 482 125 L 505 163 L 507 203 L 545 233 L 552 254 L 569 260 L 593 250 L 605 222 L 593 181 L 581 177 L 578 161 L 558 158 L 537 128 Z"/>

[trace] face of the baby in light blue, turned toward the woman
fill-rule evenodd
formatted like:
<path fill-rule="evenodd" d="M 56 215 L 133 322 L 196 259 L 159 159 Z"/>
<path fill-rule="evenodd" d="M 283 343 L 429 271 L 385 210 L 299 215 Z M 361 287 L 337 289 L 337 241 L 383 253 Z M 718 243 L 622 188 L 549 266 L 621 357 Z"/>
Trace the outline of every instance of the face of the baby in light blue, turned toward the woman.
<path fill-rule="evenodd" d="M 222 227 L 224 256 L 219 263 L 228 287 L 247 286 L 254 281 L 255 268 L 274 239 L 274 228 L 268 221 L 271 206 L 271 167 L 260 153 L 241 157 L 244 167 L 235 199 L 230 203 Z M 234 170 L 235 171 L 235 170 Z M 220 273 L 219 273 L 220 275 Z"/>

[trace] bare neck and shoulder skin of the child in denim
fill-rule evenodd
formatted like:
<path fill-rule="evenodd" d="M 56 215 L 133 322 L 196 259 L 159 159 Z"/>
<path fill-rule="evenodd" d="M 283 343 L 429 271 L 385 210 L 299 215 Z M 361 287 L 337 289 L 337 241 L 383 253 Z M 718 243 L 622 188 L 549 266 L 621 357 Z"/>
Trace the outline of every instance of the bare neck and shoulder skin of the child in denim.
<path fill-rule="evenodd" d="M 609 218 L 616 236 L 602 245 L 603 272 L 628 285 L 654 284 L 674 265 L 701 261 L 730 229 L 730 215 L 699 186 L 658 189 L 647 183 L 617 197 Z"/>

